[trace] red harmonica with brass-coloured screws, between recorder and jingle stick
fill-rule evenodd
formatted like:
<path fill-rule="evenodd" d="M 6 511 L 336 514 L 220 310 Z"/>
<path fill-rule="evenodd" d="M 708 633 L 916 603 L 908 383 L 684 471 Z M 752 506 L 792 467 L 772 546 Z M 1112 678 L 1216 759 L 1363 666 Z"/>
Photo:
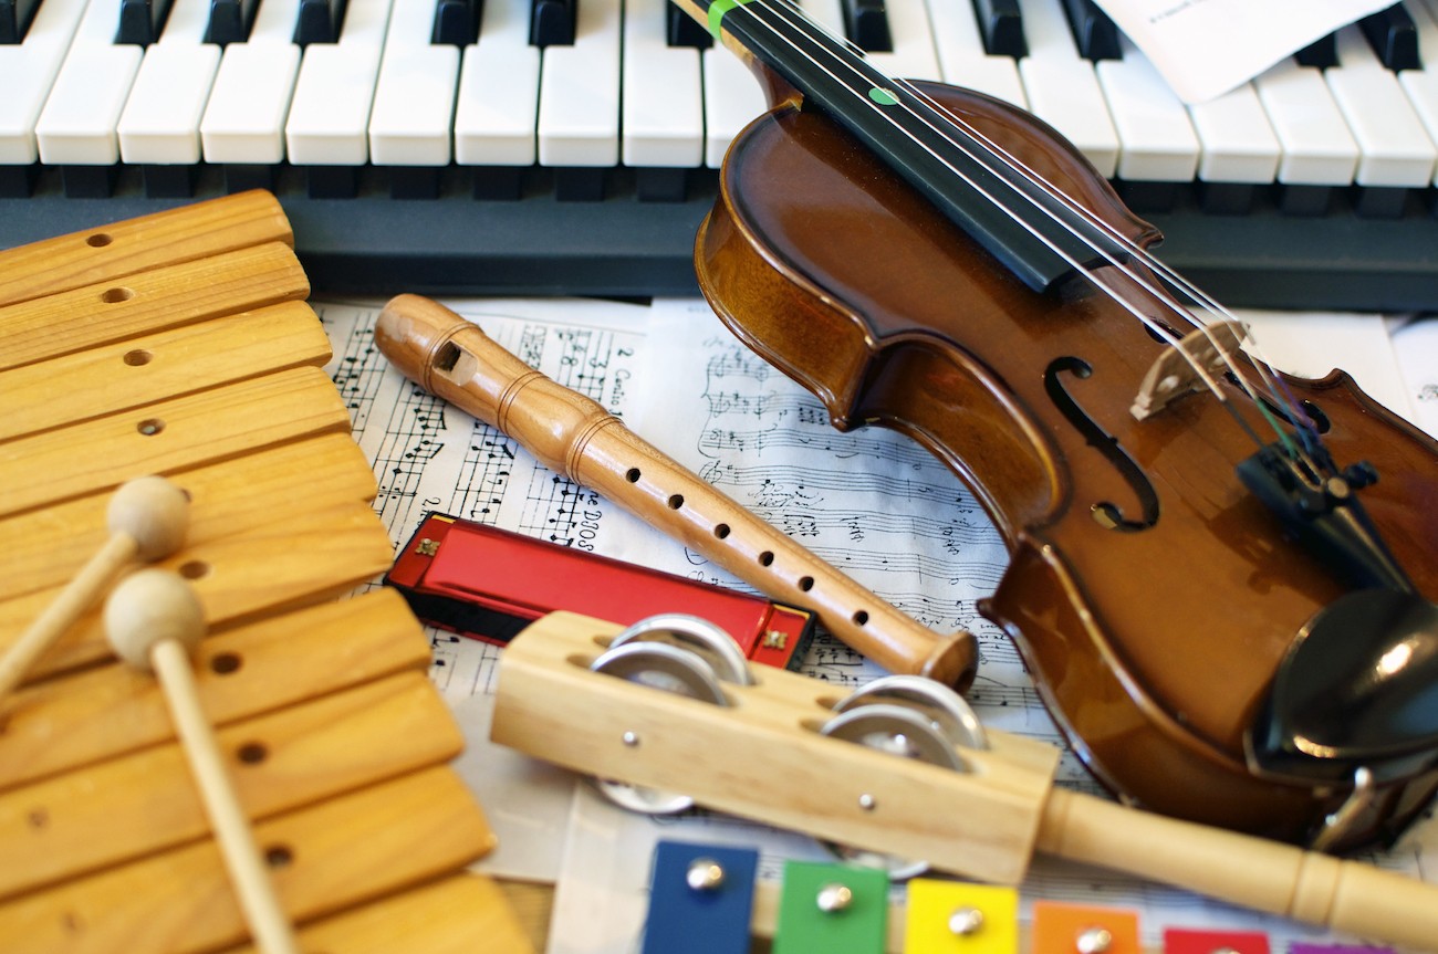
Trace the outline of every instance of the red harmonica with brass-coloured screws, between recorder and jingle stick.
<path fill-rule="evenodd" d="M 814 613 L 585 550 L 431 513 L 384 582 L 424 622 L 503 645 L 555 609 L 630 625 L 684 612 L 725 629 L 745 655 L 797 670 Z"/>

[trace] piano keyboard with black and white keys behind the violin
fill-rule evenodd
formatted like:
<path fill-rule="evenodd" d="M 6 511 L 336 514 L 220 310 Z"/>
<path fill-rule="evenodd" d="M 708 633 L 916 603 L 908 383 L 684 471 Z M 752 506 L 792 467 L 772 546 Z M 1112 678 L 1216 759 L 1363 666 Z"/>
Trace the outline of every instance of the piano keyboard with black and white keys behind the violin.
<path fill-rule="evenodd" d="M 1058 128 L 1219 300 L 1438 307 L 1438 0 L 1194 106 L 1093 0 L 801 4 Z M 321 290 L 689 295 L 764 108 L 706 39 L 664 0 L 0 0 L 0 246 L 266 187 Z"/>

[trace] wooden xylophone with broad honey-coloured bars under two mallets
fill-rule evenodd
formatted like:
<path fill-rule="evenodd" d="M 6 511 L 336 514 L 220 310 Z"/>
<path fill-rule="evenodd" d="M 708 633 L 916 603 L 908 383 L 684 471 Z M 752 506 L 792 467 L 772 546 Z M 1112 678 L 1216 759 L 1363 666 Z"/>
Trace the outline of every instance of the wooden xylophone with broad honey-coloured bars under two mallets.
<path fill-rule="evenodd" d="M 0 651 L 121 483 L 190 499 L 201 703 L 306 951 L 529 950 L 447 764 L 463 738 L 391 591 L 375 478 L 279 204 L 247 193 L 0 253 Z M 249 950 L 154 680 L 92 608 L 0 700 L 0 947 Z"/>

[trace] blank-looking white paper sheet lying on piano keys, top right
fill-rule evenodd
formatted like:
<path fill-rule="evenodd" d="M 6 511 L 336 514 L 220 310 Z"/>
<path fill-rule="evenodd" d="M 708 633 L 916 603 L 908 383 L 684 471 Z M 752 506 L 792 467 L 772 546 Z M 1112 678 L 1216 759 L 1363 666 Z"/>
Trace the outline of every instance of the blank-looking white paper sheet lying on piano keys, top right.
<path fill-rule="evenodd" d="M 1393 0 L 1096 0 L 1183 102 L 1221 96 Z"/>

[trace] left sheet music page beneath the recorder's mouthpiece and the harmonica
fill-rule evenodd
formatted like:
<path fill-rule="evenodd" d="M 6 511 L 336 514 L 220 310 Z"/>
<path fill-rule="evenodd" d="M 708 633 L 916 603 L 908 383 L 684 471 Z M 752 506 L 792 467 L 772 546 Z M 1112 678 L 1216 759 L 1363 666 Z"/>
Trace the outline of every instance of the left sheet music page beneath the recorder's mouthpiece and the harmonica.
<path fill-rule="evenodd" d="M 545 470 L 508 437 L 406 381 L 374 345 L 380 302 L 312 305 L 334 348 L 326 371 L 374 464 L 375 509 L 397 550 L 431 510 L 630 559 L 673 546 L 594 491 Z M 571 300 L 493 300 L 467 309 L 490 338 L 618 417 L 636 399 L 631 382 L 647 312 Z M 499 848 L 479 866 L 554 881 L 572 777 L 489 743 L 496 647 L 433 628 L 429 635 L 430 677 L 464 731 L 456 769 L 499 835 Z"/>

